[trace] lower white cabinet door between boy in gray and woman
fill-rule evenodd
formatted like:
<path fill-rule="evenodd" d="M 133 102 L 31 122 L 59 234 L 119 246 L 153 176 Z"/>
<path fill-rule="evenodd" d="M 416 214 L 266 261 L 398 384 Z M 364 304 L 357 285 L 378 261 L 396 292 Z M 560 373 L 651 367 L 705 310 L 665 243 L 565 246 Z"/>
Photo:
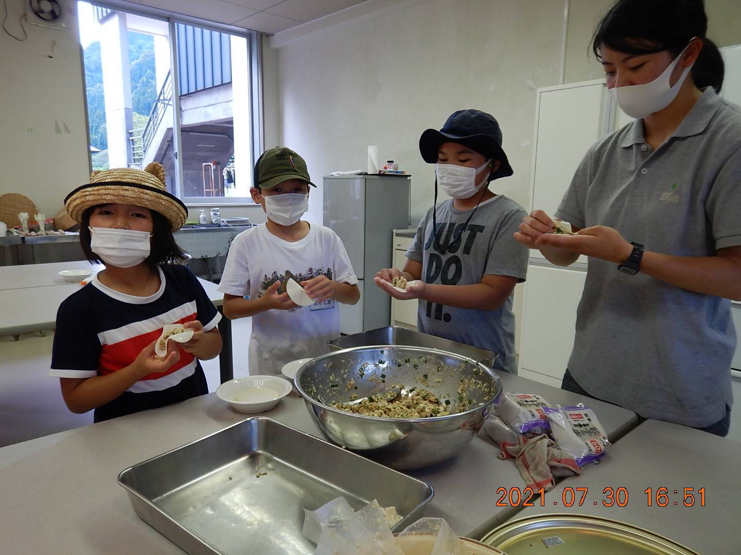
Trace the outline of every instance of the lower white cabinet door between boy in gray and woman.
<path fill-rule="evenodd" d="M 576 307 L 586 277 L 584 271 L 555 266 L 531 265 L 528 269 L 519 357 L 522 376 L 561 386 L 574 346 Z"/>

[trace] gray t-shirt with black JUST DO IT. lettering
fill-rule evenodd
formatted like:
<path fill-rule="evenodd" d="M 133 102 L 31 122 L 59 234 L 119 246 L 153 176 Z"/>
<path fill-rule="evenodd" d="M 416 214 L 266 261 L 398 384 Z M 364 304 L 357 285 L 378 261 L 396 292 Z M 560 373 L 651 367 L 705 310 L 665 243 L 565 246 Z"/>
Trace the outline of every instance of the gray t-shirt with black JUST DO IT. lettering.
<path fill-rule="evenodd" d="M 422 218 L 414 243 L 406 253 L 407 258 L 422 263 L 422 280 L 442 285 L 473 285 L 481 283 L 485 275 L 507 275 L 525 281 L 528 249 L 513 237 L 526 215 L 525 210 L 498 195 L 481 203 L 464 228 L 471 212 L 456 210 L 453 201 L 437 205 L 437 235 L 444 254 L 433 240 L 432 209 Z M 459 232 L 460 238 L 455 240 Z M 498 310 L 459 309 L 420 300 L 417 326 L 426 334 L 494 351 L 499 354 L 494 368 L 517 373 L 512 295 Z"/>

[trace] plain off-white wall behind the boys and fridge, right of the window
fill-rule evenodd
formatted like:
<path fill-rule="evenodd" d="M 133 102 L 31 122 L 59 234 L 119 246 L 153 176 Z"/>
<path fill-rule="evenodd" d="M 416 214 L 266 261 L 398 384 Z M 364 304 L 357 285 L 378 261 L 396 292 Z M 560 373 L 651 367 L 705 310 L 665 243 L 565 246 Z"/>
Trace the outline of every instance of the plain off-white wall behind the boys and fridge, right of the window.
<path fill-rule="evenodd" d="M 535 89 L 559 81 L 562 14 L 549 0 L 408 1 L 291 41 L 279 50 L 282 143 L 317 184 L 365 169 L 368 145 L 379 145 L 412 174 L 416 222 L 434 183 L 419 135 L 474 107 L 499 120 L 515 170 L 494 189 L 527 204 Z M 320 187 L 310 218 L 321 213 Z"/>

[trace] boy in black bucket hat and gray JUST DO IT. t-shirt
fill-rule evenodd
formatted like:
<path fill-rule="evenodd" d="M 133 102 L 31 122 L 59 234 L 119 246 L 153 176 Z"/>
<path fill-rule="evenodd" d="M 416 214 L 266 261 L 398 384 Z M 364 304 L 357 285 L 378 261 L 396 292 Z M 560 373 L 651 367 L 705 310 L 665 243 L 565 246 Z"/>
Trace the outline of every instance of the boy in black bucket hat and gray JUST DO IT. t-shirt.
<path fill-rule="evenodd" d="M 397 299 L 420 300 L 419 331 L 494 351 L 494 367 L 516 374 L 512 292 L 525 281 L 528 252 L 512 234 L 526 212 L 489 189 L 513 173 L 499 124 L 485 112 L 459 110 L 442 129 L 422 133 L 419 151 L 436 164 L 435 205 L 403 271 L 383 269 L 376 284 Z M 438 185 L 451 200 L 437 204 Z M 413 283 L 399 292 L 394 277 Z"/>

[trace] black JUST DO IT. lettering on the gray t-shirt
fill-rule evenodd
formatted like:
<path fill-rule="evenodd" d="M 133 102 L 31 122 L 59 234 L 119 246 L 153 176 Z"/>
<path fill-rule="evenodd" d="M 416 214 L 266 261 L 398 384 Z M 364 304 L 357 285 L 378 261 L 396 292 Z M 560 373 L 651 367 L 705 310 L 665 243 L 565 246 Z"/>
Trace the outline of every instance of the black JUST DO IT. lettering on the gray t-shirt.
<path fill-rule="evenodd" d="M 431 233 L 425 243 L 425 252 L 428 254 L 425 283 L 435 283 L 439 279 L 442 285 L 458 285 L 463 275 L 465 258 L 462 257 L 471 255 L 476 239 L 483 234 L 485 229 L 486 226 L 473 223 L 438 223 L 437 240 L 434 240 Z M 438 246 L 448 256 L 443 258 Z M 428 318 L 442 320 L 445 323 L 453 320 L 450 313 L 444 312 L 444 305 L 426 302 Z"/>

